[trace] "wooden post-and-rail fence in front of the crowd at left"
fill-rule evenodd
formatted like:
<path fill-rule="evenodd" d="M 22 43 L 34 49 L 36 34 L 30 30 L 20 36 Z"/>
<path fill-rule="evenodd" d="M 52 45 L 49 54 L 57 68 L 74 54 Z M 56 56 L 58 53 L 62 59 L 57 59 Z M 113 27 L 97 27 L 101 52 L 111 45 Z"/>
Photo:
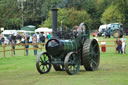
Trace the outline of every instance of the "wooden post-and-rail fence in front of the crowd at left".
<path fill-rule="evenodd" d="M 31 45 L 30 48 L 25 48 L 26 45 Z M 22 46 L 20 48 L 16 48 L 15 51 L 17 50 L 23 50 L 24 51 L 24 56 L 26 55 L 26 49 L 28 50 L 34 50 L 34 49 L 40 49 L 40 51 L 42 51 L 45 43 L 36 43 L 36 45 L 38 45 L 38 48 L 33 48 L 32 46 L 35 45 L 33 43 L 29 43 L 29 44 L 15 44 L 15 47 L 16 46 Z M 10 47 L 10 48 L 9 48 Z M 11 56 L 13 56 L 13 45 L 1 45 L 0 46 L 1 50 L 0 50 L 0 53 L 3 52 L 3 56 L 6 57 L 6 52 L 10 51 L 11 52 Z M 7 49 L 6 49 L 7 48 Z M 0 55 L 1 56 L 1 55 Z"/>

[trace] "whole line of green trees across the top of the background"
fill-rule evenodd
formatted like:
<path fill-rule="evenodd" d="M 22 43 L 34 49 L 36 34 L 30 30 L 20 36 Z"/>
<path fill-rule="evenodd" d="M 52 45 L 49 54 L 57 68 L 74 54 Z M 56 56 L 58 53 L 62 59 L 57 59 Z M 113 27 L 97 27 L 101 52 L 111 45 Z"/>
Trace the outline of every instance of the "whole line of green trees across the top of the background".
<path fill-rule="evenodd" d="M 23 2 L 22 4 L 19 1 Z M 23 25 L 51 27 L 51 8 L 57 7 L 58 26 L 86 22 L 90 29 L 101 24 L 128 26 L 128 0 L 0 0 L 0 27 L 19 29 Z"/>

